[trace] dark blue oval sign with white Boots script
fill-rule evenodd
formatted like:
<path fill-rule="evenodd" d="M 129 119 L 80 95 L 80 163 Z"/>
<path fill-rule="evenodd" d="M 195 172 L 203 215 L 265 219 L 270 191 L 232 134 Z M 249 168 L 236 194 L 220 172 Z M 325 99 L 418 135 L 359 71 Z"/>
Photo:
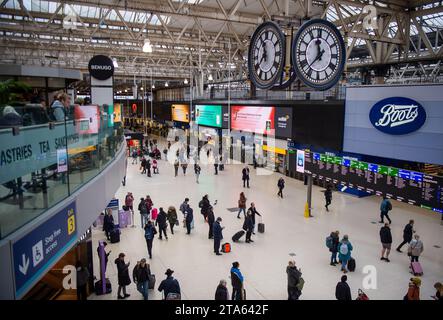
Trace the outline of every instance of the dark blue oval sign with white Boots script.
<path fill-rule="evenodd" d="M 372 125 L 387 134 L 407 134 L 420 129 L 426 121 L 426 111 L 420 103 L 403 97 L 386 98 L 369 112 Z"/>

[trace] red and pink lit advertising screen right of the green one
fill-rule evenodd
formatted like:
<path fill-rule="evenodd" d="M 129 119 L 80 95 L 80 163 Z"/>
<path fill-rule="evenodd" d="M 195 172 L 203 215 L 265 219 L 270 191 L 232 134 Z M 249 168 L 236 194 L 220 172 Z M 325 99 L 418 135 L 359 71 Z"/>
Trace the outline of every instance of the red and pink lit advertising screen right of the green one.
<path fill-rule="evenodd" d="M 275 129 L 275 107 L 232 106 L 231 129 L 270 134 Z"/>

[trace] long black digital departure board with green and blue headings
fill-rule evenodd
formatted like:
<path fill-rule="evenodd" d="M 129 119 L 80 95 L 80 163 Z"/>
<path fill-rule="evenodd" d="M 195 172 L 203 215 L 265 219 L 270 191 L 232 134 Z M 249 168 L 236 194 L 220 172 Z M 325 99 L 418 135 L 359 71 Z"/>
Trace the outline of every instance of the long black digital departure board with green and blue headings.
<path fill-rule="evenodd" d="M 305 152 L 315 178 L 443 213 L 443 177 L 315 152 Z"/>

